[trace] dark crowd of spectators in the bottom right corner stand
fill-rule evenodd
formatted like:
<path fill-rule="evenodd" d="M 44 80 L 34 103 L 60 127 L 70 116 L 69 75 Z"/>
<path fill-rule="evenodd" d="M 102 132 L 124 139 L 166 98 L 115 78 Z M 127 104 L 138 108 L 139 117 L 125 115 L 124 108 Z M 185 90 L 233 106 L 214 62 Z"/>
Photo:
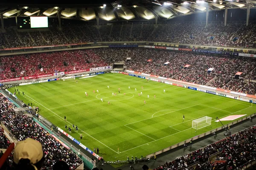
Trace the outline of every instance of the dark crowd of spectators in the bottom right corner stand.
<path fill-rule="evenodd" d="M 249 127 L 221 141 L 209 144 L 171 162 L 166 162 L 154 170 L 233 170 L 242 166 L 256 156 L 256 126 Z M 218 153 L 217 157 L 225 160 L 223 163 L 208 162 L 210 155 Z M 196 164 L 196 167 L 189 167 Z"/>

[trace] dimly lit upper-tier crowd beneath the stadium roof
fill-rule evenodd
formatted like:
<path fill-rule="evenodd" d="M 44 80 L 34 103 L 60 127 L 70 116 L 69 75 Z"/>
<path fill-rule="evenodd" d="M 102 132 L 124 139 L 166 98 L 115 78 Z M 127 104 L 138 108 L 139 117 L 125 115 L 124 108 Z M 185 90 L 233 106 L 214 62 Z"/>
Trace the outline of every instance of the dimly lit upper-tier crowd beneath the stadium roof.
<path fill-rule="evenodd" d="M 0 48 L 133 40 L 255 48 L 255 30 L 255 23 L 246 26 L 241 22 L 228 23 L 227 26 L 224 23 L 211 23 L 207 27 L 203 22 L 170 22 L 158 24 L 157 27 L 153 23 L 117 23 L 101 25 L 99 29 L 88 24 L 63 26 L 61 30 L 49 27 L 48 30 L 32 32 L 6 28 L 6 33 L 0 34 L 0 37 L 6 34 L 9 43 L 1 40 Z"/>

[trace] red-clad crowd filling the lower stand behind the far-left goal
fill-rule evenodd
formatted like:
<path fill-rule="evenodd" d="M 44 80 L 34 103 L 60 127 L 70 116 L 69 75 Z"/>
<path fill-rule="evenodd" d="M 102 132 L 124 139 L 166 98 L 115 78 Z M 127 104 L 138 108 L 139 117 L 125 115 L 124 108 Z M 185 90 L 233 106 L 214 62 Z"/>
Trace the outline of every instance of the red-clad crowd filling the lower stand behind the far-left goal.
<path fill-rule="evenodd" d="M 60 51 L 0 57 L 0 79 L 52 74 L 109 65 L 93 50 Z M 41 71 L 41 67 L 43 71 Z"/>

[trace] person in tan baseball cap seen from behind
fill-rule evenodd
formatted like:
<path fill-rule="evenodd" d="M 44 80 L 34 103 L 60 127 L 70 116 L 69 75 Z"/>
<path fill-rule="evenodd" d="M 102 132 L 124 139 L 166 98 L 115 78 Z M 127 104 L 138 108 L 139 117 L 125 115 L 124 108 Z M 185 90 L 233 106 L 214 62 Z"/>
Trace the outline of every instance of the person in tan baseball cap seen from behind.
<path fill-rule="evenodd" d="M 31 138 L 17 142 L 13 153 L 15 170 L 40 170 L 44 159 L 43 147 L 40 142 Z"/>

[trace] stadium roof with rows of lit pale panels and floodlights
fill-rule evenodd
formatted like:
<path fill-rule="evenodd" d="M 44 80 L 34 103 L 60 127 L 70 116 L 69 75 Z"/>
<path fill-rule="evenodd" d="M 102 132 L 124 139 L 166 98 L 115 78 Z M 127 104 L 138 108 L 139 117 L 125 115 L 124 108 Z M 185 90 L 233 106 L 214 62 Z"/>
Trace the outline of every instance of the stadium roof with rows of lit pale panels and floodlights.
<path fill-rule="evenodd" d="M 174 17 L 227 8 L 256 8 L 255 0 L 119 0 L 112 3 L 97 4 L 31 4 L 23 1 L 18 3 L 1 3 L 0 14 L 3 17 L 17 16 L 48 16 L 95 21 L 154 20 L 165 21 Z"/>

